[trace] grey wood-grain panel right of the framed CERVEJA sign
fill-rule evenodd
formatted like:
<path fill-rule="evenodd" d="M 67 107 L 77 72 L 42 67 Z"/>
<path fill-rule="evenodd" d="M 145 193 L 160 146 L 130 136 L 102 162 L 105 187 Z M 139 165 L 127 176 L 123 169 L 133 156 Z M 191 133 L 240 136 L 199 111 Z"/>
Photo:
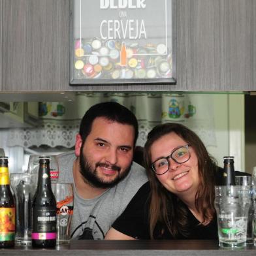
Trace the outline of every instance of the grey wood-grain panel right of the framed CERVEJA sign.
<path fill-rule="evenodd" d="M 255 1 L 182 0 L 178 6 L 178 83 L 189 90 L 256 89 Z"/>

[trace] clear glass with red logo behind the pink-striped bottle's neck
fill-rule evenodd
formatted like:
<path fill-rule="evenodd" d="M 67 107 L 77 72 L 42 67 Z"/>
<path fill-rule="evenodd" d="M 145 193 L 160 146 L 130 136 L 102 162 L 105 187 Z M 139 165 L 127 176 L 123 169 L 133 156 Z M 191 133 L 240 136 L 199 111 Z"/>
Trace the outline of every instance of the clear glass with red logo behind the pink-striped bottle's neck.
<path fill-rule="evenodd" d="M 27 166 L 27 172 L 36 173 L 39 172 L 39 157 L 42 155 L 29 155 L 29 164 Z M 46 156 L 46 155 L 45 155 Z M 59 163 L 56 155 L 47 155 L 50 157 L 50 176 L 51 182 L 56 183 L 59 178 Z"/>

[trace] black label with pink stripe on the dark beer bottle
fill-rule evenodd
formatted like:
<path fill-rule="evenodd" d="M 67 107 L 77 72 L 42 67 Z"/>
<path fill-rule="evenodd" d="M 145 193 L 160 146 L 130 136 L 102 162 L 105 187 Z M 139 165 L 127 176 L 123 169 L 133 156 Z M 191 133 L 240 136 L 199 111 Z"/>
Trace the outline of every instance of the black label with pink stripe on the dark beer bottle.
<path fill-rule="evenodd" d="M 34 207 L 31 238 L 34 240 L 56 239 L 56 221 L 56 207 Z"/>

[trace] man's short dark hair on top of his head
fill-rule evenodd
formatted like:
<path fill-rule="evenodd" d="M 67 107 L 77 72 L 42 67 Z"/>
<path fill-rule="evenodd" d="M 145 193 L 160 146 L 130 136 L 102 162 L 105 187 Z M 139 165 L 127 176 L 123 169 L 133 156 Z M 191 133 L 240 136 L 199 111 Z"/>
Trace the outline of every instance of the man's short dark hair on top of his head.
<path fill-rule="evenodd" d="M 98 103 L 86 111 L 84 117 L 80 123 L 79 134 L 82 137 L 82 141 L 86 140 L 86 137 L 91 132 L 91 126 L 95 118 L 106 118 L 110 121 L 116 121 L 117 123 L 132 125 L 135 129 L 135 140 L 138 138 L 138 121 L 135 115 L 125 106 L 115 102 Z M 114 136 L 114 135 L 113 135 Z"/>

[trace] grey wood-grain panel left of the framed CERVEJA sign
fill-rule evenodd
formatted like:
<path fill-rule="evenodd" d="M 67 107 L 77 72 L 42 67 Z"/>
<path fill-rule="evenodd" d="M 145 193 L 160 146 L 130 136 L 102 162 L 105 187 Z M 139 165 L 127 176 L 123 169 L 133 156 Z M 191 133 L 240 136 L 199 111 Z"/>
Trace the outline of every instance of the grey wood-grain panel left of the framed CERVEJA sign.
<path fill-rule="evenodd" d="M 3 9 L 3 89 L 67 88 L 69 0 L 4 0 Z"/>

